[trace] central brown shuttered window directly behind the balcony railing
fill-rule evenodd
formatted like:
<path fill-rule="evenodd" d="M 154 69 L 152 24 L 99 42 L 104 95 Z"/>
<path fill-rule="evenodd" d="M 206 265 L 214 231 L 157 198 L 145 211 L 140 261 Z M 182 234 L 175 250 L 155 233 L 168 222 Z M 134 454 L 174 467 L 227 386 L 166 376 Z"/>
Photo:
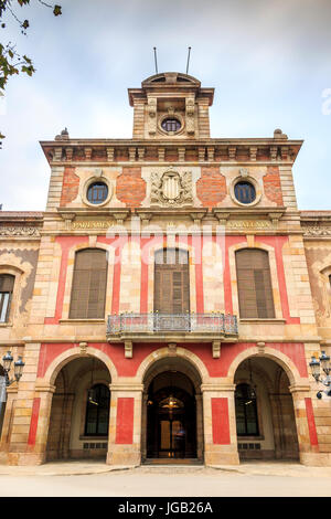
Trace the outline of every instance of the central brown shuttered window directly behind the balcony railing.
<path fill-rule="evenodd" d="M 190 311 L 189 253 L 178 248 L 159 251 L 154 266 L 154 311 Z"/>

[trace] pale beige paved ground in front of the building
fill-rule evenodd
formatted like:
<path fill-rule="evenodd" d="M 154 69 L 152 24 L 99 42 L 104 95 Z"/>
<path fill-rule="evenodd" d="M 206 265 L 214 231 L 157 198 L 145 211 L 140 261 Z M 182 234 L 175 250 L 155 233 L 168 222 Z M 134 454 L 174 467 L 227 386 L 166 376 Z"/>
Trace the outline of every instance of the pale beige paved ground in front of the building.
<path fill-rule="evenodd" d="M 107 470 L 107 472 L 106 472 Z M 246 463 L 238 467 L 141 466 L 111 469 L 92 462 L 0 466 L 1 497 L 331 497 L 331 467 Z"/>

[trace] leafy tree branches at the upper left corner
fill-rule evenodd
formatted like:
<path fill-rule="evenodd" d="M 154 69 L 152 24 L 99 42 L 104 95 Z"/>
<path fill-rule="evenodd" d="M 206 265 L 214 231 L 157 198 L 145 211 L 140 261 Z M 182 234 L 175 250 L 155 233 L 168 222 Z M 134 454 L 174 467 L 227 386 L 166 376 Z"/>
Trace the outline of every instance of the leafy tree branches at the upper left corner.
<path fill-rule="evenodd" d="M 53 6 L 44 2 L 43 0 L 35 0 L 41 6 L 50 8 L 53 10 L 54 17 L 62 14 L 61 6 Z M 26 35 L 28 29 L 30 27 L 29 20 L 20 20 L 15 14 L 13 4 L 19 4 L 20 8 L 24 8 L 30 4 L 30 0 L 0 0 L 0 30 L 6 29 L 6 23 L 3 17 L 6 13 L 10 13 L 14 20 L 18 22 L 21 33 Z M 0 95 L 4 95 L 4 88 L 9 78 L 14 74 L 28 74 L 32 76 L 35 72 L 32 60 L 25 54 L 21 54 L 17 51 L 17 46 L 8 42 L 7 44 L 0 43 Z M 0 131 L 0 149 L 1 149 L 1 139 L 4 138 L 4 135 Z"/>

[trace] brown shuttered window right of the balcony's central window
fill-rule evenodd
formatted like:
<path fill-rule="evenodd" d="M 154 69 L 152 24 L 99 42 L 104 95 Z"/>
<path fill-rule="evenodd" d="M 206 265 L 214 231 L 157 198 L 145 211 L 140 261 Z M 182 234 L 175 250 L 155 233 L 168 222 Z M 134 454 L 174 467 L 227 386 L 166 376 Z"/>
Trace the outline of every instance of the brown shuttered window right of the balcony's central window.
<path fill-rule="evenodd" d="M 237 251 L 236 269 L 241 317 L 274 318 L 268 253 L 258 248 Z"/>

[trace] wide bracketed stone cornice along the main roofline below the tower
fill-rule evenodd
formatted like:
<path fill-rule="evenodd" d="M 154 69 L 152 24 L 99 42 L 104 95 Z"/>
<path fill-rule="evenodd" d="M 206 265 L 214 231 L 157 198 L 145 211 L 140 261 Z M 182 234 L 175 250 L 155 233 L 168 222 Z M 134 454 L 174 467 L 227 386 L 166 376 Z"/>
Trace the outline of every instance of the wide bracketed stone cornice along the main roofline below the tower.
<path fill-rule="evenodd" d="M 40 141 L 51 165 L 89 163 L 292 163 L 302 140 L 259 139 L 57 139 Z M 180 150 L 179 150 L 180 148 Z"/>

